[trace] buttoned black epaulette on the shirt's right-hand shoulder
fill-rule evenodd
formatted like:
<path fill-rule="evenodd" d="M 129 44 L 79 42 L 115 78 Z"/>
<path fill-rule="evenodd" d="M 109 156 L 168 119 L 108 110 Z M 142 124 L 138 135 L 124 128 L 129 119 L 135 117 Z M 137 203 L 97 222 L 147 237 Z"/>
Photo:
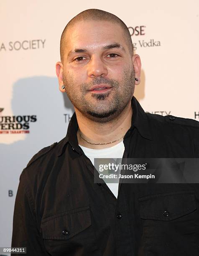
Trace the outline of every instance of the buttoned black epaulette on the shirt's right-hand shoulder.
<path fill-rule="evenodd" d="M 152 122 L 155 121 L 156 124 L 171 124 L 172 126 L 175 126 L 176 128 L 179 128 L 179 126 L 182 127 L 192 127 L 195 129 L 199 128 L 199 122 L 190 118 L 181 118 L 173 115 L 157 115 L 157 114 L 151 114 L 146 113 L 148 120 L 151 120 Z"/>

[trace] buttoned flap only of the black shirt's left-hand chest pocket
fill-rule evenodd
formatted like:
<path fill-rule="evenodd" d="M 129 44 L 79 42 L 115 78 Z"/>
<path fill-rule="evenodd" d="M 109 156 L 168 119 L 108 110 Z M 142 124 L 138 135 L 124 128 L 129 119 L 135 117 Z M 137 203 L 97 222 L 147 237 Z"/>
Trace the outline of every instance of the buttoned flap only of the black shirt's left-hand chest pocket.
<path fill-rule="evenodd" d="M 44 239 L 66 240 L 91 225 L 90 207 L 62 212 L 41 222 Z"/>

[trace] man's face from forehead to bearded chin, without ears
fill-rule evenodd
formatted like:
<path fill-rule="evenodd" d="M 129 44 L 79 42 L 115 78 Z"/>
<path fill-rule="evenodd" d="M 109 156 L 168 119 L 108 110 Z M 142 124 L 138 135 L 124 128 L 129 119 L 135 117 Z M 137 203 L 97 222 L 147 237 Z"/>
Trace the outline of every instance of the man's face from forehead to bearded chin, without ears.
<path fill-rule="evenodd" d="M 109 21 L 84 21 L 66 33 L 63 83 L 84 116 L 97 122 L 117 117 L 135 87 L 132 57 L 122 28 Z"/>

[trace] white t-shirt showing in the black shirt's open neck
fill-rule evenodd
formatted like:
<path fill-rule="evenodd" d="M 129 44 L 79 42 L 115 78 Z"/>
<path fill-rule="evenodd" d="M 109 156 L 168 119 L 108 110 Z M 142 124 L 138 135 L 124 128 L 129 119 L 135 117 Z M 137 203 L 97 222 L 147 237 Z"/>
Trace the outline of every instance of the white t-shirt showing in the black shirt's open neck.
<path fill-rule="evenodd" d="M 92 164 L 94 165 L 94 158 L 122 158 L 124 154 L 124 143 L 121 141 L 120 143 L 117 143 L 115 146 L 109 147 L 109 148 L 102 148 L 102 149 L 92 149 L 87 148 L 84 146 L 79 145 L 82 150 L 84 151 L 84 154 L 90 159 Z M 106 183 L 107 186 L 110 188 L 112 193 L 117 198 L 118 195 L 118 182 L 117 183 Z"/>

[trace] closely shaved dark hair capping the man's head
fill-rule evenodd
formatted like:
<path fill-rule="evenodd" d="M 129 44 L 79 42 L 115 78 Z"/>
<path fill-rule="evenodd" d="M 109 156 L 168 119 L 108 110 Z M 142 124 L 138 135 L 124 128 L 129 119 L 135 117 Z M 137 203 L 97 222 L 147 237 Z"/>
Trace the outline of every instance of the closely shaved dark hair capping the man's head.
<path fill-rule="evenodd" d="M 80 21 L 87 21 L 87 20 L 102 20 L 102 21 L 110 21 L 112 23 L 115 23 L 117 25 L 120 25 L 122 30 L 124 31 L 124 38 L 126 39 L 128 49 L 130 52 L 130 55 L 133 56 L 133 44 L 130 36 L 130 32 L 128 30 L 128 27 L 125 25 L 125 23 L 120 20 L 116 15 L 112 13 L 105 12 L 103 10 L 98 9 L 88 9 L 84 10 L 83 12 L 76 15 L 74 18 L 72 18 L 69 23 L 64 28 L 64 31 L 61 34 L 61 40 L 60 40 L 60 57 L 61 62 L 63 62 L 64 59 L 64 50 L 66 48 L 66 32 L 69 28 L 73 27 L 76 23 Z"/>

